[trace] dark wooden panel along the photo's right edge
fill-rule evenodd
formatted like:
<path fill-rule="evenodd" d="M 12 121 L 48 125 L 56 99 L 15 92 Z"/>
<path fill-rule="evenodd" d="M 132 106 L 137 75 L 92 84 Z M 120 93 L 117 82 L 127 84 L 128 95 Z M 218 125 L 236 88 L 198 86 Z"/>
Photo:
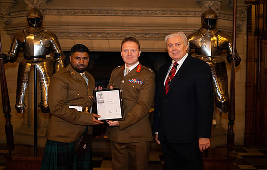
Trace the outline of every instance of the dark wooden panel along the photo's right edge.
<path fill-rule="evenodd" d="M 248 8 L 244 144 L 267 146 L 266 0 L 246 0 Z M 252 11 L 254 11 L 252 13 Z M 252 24 L 253 23 L 253 24 Z"/>

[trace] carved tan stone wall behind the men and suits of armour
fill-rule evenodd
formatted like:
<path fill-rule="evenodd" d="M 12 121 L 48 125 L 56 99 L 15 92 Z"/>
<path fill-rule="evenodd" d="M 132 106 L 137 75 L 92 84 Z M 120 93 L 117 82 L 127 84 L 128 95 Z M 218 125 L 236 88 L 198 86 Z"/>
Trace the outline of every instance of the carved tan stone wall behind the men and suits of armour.
<path fill-rule="evenodd" d="M 200 28 L 200 16 L 206 7 L 216 7 L 218 12 L 218 28 L 227 34 L 232 34 L 232 11 L 229 10 L 228 1 L 184 1 L 170 0 L 162 3 L 154 0 L 153 3 L 142 0 L 114 0 L 113 3 L 100 4 L 99 1 L 76 0 L 5 0 L 9 1 L 6 12 L 0 13 L 2 23 L 0 23 L 0 33 L 2 38 L 3 51 L 9 51 L 12 36 L 19 30 L 27 26 L 27 10 L 33 6 L 39 7 L 43 11 L 45 28 L 54 32 L 60 41 L 64 51 L 77 43 L 86 45 L 90 51 L 120 51 L 120 42 L 125 36 L 135 36 L 140 40 L 142 51 L 163 52 L 167 51 L 165 46 L 165 36 L 172 32 L 184 31 L 191 34 Z M 3 5 L 0 0 L 0 8 Z M 27 3 L 27 4 L 26 4 Z M 140 5 L 142 4 L 142 5 Z M 11 6 L 12 10 L 11 10 Z M 242 13 L 245 18 L 245 11 Z M 237 29 L 237 50 L 242 61 L 246 60 L 246 23 L 245 19 L 238 24 Z M 22 56 L 21 56 L 22 57 Z M 19 60 L 19 59 L 18 59 Z M 33 113 L 33 74 L 27 90 L 25 102 L 28 103 L 28 116 L 17 114 L 14 105 L 17 86 L 18 63 L 8 63 L 5 65 L 8 90 L 12 112 L 12 123 L 14 129 L 19 129 L 21 125 L 32 126 Z M 237 121 L 235 123 L 236 142 L 243 143 L 244 136 L 244 93 L 245 63 L 236 70 L 237 90 Z M 228 67 L 228 75 L 230 67 Z M 229 76 L 228 76 L 229 77 Z M 239 95 L 239 96 L 238 96 Z M 40 126 L 46 127 L 48 115 L 41 114 Z M 4 124 L 4 118 L 0 117 L 0 124 Z M 217 122 L 227 129 L 227 117 L 218 116 Z M 45 131 L 43 129 L 42 131 Z M 44 132 L 40 132 L 44 133 Z M 5 142 L 3 128 L 0 130 L 0 143 Z M 19 136 L 15 136 L 18 141 Z M 43 143 L 42 143 L 43 144 Z"/>

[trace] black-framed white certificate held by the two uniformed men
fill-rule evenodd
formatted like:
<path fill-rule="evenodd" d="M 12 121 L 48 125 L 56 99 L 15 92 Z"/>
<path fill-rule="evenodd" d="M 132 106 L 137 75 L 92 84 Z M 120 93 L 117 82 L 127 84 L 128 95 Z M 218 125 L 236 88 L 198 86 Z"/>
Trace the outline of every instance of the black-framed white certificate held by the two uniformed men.
<path fill-rule="evenodd" d="M 94 90 L 94 105 L 99 120 L 124 120 L 121 88 Z"/>

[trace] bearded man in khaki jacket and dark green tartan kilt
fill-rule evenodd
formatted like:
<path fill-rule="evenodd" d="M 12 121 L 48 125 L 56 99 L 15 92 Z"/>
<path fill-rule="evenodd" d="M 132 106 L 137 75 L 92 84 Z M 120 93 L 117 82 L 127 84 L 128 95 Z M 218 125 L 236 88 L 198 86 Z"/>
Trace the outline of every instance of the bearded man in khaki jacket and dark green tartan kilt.
<path fill-rule="evenodd" d="M 84 112 L 93 105 L 95 79 L 85 71 L 89 50 L 82 44 L 70 50 L 70 64 L 51 79 L 49 105 L 51 119 L 41 170 L 91 170 L 90 152 L 77 155 L 73 147 L 78 136 L 92 133 L 92 126 L 102 123 L 100 116 Z"/>

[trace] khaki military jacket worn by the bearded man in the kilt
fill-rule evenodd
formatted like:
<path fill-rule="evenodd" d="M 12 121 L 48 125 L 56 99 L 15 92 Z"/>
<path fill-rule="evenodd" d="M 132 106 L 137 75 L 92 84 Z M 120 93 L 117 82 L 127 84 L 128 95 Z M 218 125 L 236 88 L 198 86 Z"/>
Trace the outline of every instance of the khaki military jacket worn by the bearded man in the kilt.
<path fill-rule="evenodd" d="M 86 125 L 92 124 L 92 113 L 69 108 L 69 105 L 93 105 L 95 79 L 87 71 L 85 76 L 89 80 L 88 85 L 81 74 L 69 64 L 51 78 L 48 96 L 51 113 L 47 134 L 49 140 L 73 142 L 84 132 Z M 88 133 L 92 133 L 91 126 L 88 128 Z"/>

